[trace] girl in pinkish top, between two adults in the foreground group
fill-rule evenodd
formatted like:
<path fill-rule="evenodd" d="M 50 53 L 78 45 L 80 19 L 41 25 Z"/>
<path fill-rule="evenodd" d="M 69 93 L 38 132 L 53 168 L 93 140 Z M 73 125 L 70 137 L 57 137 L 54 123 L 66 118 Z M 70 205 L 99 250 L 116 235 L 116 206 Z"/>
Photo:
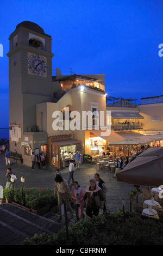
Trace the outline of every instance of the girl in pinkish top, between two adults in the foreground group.
<path fill-rule="evenodd" d="M 83 199 L 83 190 L 80 188 L 78 181 L 74 181 L 73 186 L 74 187 L 71 191 L 71 197 L 73 198 L 74 206 L 76 209 L 77 221 L 79 221 L 80 218 L 84 218 L 83 203 L 79 203 L 79 200 Z"/>

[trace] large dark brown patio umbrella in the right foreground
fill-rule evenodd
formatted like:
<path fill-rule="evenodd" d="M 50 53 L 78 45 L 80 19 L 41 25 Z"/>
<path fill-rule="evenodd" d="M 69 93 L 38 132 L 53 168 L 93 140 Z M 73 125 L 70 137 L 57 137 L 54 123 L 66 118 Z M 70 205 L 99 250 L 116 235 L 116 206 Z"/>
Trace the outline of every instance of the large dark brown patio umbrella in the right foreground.
<path fill-rule="evenodd" d="M 142 151 L 116 174 L 116 179 L 134 185 L 163 185 L 163 147 Z"/>

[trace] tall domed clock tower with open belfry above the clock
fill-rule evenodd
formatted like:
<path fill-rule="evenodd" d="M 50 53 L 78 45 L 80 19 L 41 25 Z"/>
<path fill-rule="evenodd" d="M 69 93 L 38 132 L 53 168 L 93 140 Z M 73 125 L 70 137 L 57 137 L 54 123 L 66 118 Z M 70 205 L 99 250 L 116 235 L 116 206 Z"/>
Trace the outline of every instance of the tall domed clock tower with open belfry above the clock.
<path fill-rule="evenodd" d="M 14 151 L 13 144 L 23 142 L 29 127 L 36 127 L 36 104 L 52 101 L 54 54 L 51 36 L 34 22 L 18 24 L 9 41 L 9 124 L 11 130 L 13 125 L 19 129 L 16 134 L 10 132 L 10 141 L 16 142 L 10 142 Z"/>

